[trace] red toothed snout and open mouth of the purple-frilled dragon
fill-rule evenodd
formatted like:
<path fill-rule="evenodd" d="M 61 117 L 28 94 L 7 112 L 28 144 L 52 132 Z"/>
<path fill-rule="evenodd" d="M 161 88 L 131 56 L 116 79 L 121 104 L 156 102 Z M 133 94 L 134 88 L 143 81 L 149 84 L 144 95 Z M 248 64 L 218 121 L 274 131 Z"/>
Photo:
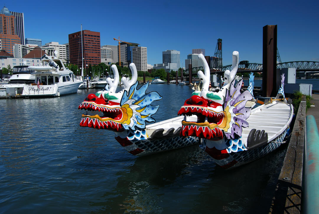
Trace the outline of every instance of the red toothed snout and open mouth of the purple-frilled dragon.
<path fill-rule="evenodd" d="M 212 107 L 213 106 L 213 107 Z M 227 114 L 224 111 L 215 112 L 211 108 L 221 107 L 212 100 L 192 96 L 186 100 L 178 115 L 185 115 L 182 121 L 182 136 L 194 136 L 210 140 L 223 138 L 222 129 L 226 127 Z M 186 121 L 186 116 L 197 115 L 197 121 Z"/>

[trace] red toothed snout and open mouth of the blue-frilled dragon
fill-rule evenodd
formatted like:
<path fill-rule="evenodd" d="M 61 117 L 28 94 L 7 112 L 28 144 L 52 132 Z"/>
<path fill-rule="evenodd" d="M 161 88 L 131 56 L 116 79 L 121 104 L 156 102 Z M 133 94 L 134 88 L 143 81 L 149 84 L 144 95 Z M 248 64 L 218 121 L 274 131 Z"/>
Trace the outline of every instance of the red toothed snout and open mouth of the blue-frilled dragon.
<path fill-rule="evenodd" d="M 95 129 L 108 129 L 112 131 L 124 131 L 121 124 L 123 117 L 123 108 L 119 103 L 109 101 L 108 99 L 98 98 L 94 94 L 89 94 L 85 101 L 82 102 L 78 109 L 87 111 L 102 112 L 103 115 L 82 115 L 80 126 L 91 127 Z M 124 108 L 125 111 L 125 108 Z"/>

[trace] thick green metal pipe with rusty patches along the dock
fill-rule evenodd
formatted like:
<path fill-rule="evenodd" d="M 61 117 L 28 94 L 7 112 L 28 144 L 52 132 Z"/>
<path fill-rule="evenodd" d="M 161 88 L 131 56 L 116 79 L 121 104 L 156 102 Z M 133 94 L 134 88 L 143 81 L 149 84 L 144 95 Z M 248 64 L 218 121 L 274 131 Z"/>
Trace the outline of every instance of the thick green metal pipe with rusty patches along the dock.
<path fill-rule="evenodd" d="M 306 117 L 303 213 L 319 210 L 319 134 L 315 117 Z"/>

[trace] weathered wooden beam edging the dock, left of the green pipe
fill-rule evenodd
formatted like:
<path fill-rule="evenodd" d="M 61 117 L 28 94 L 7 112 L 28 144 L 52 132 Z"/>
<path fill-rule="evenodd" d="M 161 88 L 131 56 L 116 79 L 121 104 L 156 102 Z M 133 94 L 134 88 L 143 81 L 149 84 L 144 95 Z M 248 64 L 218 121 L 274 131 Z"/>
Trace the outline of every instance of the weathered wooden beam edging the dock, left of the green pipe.
<path fill-rule="evenodd" d="M 269 213 L 300 213 L 306 97 L 300 102 Z"/>

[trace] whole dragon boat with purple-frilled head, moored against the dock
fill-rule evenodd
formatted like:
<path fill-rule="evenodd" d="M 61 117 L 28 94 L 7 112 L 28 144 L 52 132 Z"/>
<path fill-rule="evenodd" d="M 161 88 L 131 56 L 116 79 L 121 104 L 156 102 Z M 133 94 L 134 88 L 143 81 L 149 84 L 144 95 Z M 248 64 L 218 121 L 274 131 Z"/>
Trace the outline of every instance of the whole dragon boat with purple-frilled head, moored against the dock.
<path fill-rule="evenodd" d="M 249 81 L 248 90 L 241 92 L 243 80 L 235 80 L 238 52 L 233 52 L 231 71 L 225 71 L 225 83 L 218 92 L 208 90 L 210 70 L 202 54 L 199 59 L 204 67 L 204 73 L 198 71 L 203 86 L 178 112 L 185 116 L 181 135 L 200 138 L 200 147 L 224 169 L 254 161 L 282 145 L 293 117 L 291 100 L 287 102 L 284 93 L 285 76 L 281 75 L 276 98 L 257 106 L 253 83 Z M 188 120 L 194 115 L 196 121 Z"/>

